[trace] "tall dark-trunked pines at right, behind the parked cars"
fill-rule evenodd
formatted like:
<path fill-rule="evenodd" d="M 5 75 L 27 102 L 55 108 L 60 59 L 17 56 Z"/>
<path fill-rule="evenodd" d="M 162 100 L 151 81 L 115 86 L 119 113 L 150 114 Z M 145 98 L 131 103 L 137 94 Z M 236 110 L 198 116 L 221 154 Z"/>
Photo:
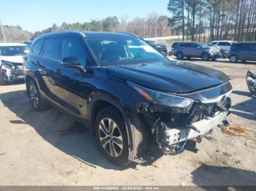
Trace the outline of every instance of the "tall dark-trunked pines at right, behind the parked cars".
<path fill-rule="evenodd" d="M 170 0 L 170 30 L 183 40 L 256 39 L 256 0 Z"/>

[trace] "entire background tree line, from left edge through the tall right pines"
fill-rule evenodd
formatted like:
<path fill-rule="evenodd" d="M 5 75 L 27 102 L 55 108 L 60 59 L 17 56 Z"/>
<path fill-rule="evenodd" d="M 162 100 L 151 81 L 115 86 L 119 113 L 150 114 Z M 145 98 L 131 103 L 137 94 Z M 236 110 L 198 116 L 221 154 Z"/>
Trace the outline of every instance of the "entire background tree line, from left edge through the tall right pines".
<path fill-rule="evenodd" d="M 169 0 L 170 15 L 105 17 L 85 23 L 62 23 L 30 33 L 20 26 L 4 26 L 7 41 L 35 39 L 54 31 L 123 31 L 143 38 L 181 36 L 182 40 L 208 42 L 256 39 L 256 0 Z M 0 41 L 3 40 L 0 32 Z"/>

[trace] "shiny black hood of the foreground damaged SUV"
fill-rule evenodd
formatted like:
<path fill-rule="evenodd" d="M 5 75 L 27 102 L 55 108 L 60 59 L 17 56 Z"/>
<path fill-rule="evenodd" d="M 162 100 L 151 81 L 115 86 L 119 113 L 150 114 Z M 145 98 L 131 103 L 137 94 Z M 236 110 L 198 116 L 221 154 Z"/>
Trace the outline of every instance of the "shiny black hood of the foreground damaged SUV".
<path fill-rule="evenodd" d="M 181 61 L 110 66 L 107 71 L 114 77 L 170 93 L 192 93 L 230 80 L 216 69 Z"/>

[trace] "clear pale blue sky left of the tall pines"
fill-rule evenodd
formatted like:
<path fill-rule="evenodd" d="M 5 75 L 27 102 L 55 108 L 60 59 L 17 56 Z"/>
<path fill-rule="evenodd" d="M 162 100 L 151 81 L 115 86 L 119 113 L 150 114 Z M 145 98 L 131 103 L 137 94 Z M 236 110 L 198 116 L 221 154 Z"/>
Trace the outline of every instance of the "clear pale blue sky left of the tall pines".
<path fill-rule="evenodd" d="M 168 0 L 0 0 L 4 25 L 41 31 L 56 23 L 84 23 L 108 16 L 146 17 L 151 12 L 168 15 Z"/>

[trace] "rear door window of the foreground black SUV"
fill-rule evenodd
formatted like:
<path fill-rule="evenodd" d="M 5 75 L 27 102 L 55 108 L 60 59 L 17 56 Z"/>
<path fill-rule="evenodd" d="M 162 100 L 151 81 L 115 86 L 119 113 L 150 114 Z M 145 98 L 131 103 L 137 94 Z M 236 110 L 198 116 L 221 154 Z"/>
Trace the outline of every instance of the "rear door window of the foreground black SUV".
<path fill-rule="evenodd" d="M 61 39 L 49 38 L 45 40 L 42 55 L 45 58 L 59 60 L 59 52 L 61 48 Z"/>

